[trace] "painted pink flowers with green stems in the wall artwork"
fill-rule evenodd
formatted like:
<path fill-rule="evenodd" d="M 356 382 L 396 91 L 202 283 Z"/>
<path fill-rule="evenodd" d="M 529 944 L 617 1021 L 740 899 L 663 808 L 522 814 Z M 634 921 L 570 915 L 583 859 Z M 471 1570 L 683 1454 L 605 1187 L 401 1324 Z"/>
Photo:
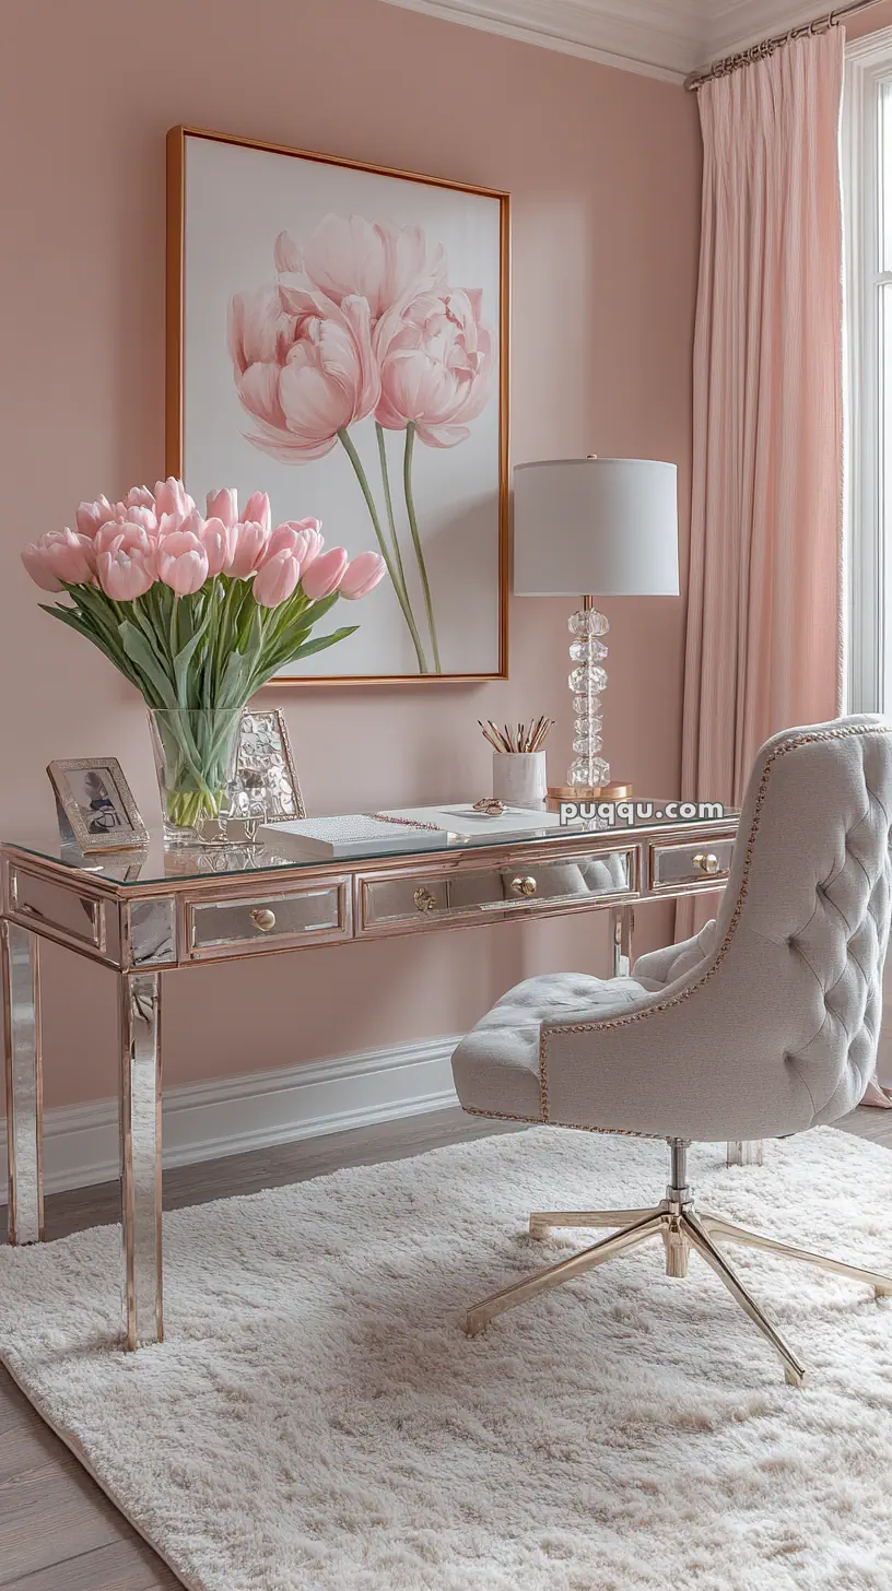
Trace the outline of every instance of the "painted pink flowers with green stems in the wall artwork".
<path fill-rule="evenodd" d="M 336 445 L 344 449 L 419 671 L 441 673 L 413 458 L 416 438 L 425 447 L 464 442 L 487 403 L 495 337 L 483 321 L 483 293 L 449 285 L 446 251 L 428 245 L 421 228 L 358 215 L 325 216 L 303 247 L 282 232 L 272 255 L 277 280 L 236 293 L 229 305 L 236 387 L 255 422 L 248 439 L 284 463 L 307 463 Z M 370 415 L 387 531 L 352 434 Z M 392 431 L 403 433 L 406 558 L 389 473 Z M 414 584 L 428 638 L 416 619 Z"/>

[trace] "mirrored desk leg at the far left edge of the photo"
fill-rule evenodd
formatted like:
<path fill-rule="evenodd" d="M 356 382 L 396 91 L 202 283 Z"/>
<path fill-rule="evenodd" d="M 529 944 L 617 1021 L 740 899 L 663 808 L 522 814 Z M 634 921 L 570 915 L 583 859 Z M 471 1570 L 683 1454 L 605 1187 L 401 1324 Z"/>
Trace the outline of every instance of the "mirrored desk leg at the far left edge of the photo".
<path fill-rule="evenodd" d="M 3 1060 L 10 1243 L 43 1241 L 40 940 L 3 923 Z"/>

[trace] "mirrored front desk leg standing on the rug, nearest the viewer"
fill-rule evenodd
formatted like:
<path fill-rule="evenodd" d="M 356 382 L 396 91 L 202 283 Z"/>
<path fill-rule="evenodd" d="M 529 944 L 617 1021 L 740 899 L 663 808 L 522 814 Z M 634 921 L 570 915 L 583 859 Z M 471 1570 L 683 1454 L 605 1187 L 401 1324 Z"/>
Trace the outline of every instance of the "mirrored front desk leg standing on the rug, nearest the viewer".
<path fill-rule="evenodd" d="M 126 1346 L 164 1336 L 161 1278 L 161 975 L 119 978 L 121 1228 Z"/>

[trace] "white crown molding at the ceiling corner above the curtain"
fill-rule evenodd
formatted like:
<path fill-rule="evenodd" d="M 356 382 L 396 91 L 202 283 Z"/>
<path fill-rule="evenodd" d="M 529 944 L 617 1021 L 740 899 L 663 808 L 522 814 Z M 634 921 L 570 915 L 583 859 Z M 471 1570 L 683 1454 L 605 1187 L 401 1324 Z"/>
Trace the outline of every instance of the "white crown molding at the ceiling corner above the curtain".
<path fill-rule="evenodd" d="M 820 0 L 385 0 L 623 72 L 683 83 L 712 60 L 811 22 Z"/>

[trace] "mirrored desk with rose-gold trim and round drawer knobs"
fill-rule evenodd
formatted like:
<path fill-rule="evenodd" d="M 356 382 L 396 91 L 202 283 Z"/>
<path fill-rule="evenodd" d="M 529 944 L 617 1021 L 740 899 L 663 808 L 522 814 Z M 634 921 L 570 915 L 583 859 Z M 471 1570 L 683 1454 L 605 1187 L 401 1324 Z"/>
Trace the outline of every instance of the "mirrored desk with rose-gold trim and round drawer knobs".
<path fill-rule="evenodd" d="M 161 993 L 204 961 L 586 910 L 631 966 L 636 902 L 720 888 L 737 819 L 486 832 L 438 850 L 293 861 L 274 845 L 81 856 L 59 838 L 0 846 L 10 1243 L 43 1238 L 40 945 L 118 980 L 124 1343 L 162 1336 Z M 198 986 L 196 986 L 198 996 Z M 734 1146 L 745 1158 L 745 1146 Z"/>

